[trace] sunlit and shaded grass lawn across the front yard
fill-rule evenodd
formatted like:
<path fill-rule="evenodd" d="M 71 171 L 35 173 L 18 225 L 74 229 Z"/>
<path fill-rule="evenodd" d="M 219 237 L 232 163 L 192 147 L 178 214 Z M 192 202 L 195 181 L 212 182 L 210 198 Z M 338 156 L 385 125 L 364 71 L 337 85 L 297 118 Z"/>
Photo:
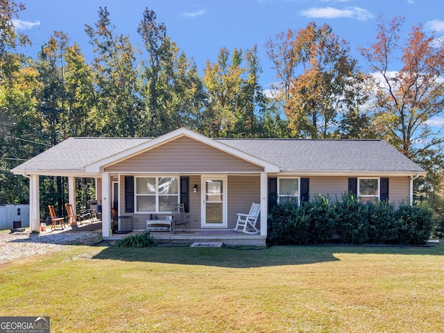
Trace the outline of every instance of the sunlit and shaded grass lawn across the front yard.
<path fill-rule="evenodd" d="M 444 332 L 444 246 L 106 248 L 0 267 L 51 332 Z"/>

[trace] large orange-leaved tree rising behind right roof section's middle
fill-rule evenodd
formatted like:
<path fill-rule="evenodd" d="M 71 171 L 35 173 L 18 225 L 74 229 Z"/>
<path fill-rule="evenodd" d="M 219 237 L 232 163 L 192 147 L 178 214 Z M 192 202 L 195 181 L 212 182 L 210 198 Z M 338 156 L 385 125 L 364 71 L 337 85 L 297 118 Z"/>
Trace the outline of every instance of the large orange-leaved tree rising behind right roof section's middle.
<path fill-rule="evenodd" d="M 310 22 L 296 33 L 281 33 L 267 47 L 293 136 L 337 136 L 343 115 L 364 100 L 362 74 L 348 43 L 327 24 Z"/>

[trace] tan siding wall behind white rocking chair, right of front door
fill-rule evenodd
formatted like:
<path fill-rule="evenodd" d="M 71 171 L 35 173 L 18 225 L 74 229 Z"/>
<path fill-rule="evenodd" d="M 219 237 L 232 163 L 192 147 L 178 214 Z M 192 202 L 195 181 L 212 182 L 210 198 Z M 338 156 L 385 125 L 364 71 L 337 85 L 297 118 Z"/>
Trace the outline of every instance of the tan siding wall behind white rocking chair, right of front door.
<path fill-rule="evenodd" d="M 228 229 L 234 229 L 237 213 L 248 214 L 252 203 L 260 203 L 259 176 L 228 177 Z M 259 228 L 259 220 L 257 220 Z"/>

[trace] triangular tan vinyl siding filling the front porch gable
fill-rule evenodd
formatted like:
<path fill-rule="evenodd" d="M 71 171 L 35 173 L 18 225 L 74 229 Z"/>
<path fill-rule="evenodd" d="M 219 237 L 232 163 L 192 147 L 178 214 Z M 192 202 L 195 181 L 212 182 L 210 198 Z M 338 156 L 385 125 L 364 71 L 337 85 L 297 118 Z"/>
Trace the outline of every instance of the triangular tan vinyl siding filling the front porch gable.
<path fill-rule="evenodd" d="M 249 172 L 262 168 L 189 137 L 180 137 L 162 146 L 105 168 L 106 172 Z"/>

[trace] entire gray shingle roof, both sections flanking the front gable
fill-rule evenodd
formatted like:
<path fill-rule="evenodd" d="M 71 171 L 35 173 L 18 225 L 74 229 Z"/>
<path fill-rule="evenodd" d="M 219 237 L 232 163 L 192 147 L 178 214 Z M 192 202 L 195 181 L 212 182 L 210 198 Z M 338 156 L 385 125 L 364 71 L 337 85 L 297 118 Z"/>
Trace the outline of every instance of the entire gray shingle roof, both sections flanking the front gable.
<path fill-rule="evenodd" d="M 149 138 L 72 137 L 16 167 L 26 171 L 83 171 L 85 166 L 145 144 Z M 215 139 L 231 148 L 278 165 L 280 171 L 424 172 L 382 140 Z"/>

